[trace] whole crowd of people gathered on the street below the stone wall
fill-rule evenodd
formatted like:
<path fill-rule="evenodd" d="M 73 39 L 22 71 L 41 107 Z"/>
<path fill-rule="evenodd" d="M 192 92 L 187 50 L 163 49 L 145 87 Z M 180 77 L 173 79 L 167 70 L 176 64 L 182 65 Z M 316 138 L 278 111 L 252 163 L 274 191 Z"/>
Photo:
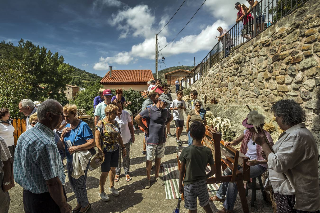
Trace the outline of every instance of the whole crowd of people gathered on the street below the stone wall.
<path fill-rule="evenodd" d="M 152 181 L 161 186 L 165 184 L 159 172 L 163 168 L 161 158 L 164 157 L 167 137 L 174 137 L 170 133 L 173 120 L 177 146 L 183 144 L 180 136 L 184 126 L 188 134 L 188 146 L 179 156 L 179 192 L 184 194 L 185 208 L 189 212 L 197 212 L 198 199 L 207 213 L 212 212 L 209 202 L 216 201 L 223 202 L 219 213 L 234 212 L 236 183 L 221 183 L 217 194 L 209 197 L 206 180 L 216 173 L 216 168 L 211 149 L 201 143 L 207 123 L 206 110 L 198 99 L 197 91 L 192 90 L 189 94 L 192 99 L 189 108 L 182 100 L 182 90 L 178 89 L 177 98 L 172 100 L 168 85 L 162 84 L 161 80 L 149 81 L 147 86 L 148 97 L 134 118 L 145 134 L 142 150 L 146 158 L 144 187 L 150 188 Z M 20 135 L 16 146 L 10 110 L 0 109 L 0 212 L 8 212 L 8 191 L 14 187 L 14 181 L 23 188 L 25 212 L 31 213 L 87 212 L 91 208 L 86 189 L 89 166 L 101 168 L 98 195 L 102 201 L 110 200 L 105 192 L 108 176 L 108 192 L 113 196 L 119 195 L 114 182 L 119 181 L 122 167 L 125 180 L 132 180 L 130 148 L 135 142 L 133 117 L 132 112 L 124 110 L 131 102 L 122 96 L 122 89 L 117 89 L 113 96 L 110 89 L 100 88 L 98 94 L 94 100 L 94 134 L 89 125 L 77 117 L 76 105 L 62 106 L 52 99 L 43 103 L 21 100 L 18 107 L 27 116 L 27 131 Z M 251 160 L 247 163 L 251 178 L 268 170 L 267 185 L 273 188 L 277 212 L 319 212 L 319 155 L 314 136 L 304 124 L 305 111 L 293 100 L 278 101 L 271 111 L 276 123 L 284 130 L 275 144 L 270 133 L 262 130 L 263 124 L 259 128 L 261 131 L 256 133 L 247 117 L 242 122 L 244 132 L 233 141 L 225 141 L 224 145 L 241 143 L 240 151 Z M 65 158 L 69 184 L 77 200 L 74 208 L 67 203 L 64 190 Z M 208 173 L 207 165 L 211 167 Z M 243 172 L 241 166 L 238 170 Z M 153 179 L 151 171 L 155 171 Z M 229 168 L 223 171 L 223 175 L 231 174 Z"/>

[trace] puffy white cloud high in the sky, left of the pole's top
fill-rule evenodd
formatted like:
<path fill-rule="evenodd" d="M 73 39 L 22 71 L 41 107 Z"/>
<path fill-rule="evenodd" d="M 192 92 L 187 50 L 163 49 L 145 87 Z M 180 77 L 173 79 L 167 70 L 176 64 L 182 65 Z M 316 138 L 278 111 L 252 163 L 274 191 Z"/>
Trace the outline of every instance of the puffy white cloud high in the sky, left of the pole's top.
<path fill-rule="evenodd" d="M 112 14 L 108 22 L 121 31 L 120 38 L 126 38 L 129 34 L 146 38 L 153 34 L 151 29 L 154 21 L 155 16 L 151 14 L 148 5 L 137 5 Z"/>

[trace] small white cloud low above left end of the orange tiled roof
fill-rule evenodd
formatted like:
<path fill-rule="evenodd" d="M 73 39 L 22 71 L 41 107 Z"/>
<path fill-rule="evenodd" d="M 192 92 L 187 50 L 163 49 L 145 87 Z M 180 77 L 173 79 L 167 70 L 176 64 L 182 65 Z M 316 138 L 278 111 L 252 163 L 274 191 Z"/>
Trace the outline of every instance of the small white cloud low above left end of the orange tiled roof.
<path fill-rule="evenodd" d="M 114 57 L 100 57 L 99 62 L 95 63 L 93 69 L 108 70 L 109 64 L 116 63 L 120 65 L 127 65 L 133 60 L 129 52 L 119 52 Z"/>

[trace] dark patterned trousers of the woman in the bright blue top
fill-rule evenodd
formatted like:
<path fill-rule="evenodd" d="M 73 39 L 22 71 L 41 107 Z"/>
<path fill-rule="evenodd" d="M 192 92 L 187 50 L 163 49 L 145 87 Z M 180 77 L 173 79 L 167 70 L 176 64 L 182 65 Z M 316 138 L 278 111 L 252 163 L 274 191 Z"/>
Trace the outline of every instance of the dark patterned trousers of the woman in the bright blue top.
<path fill-rule="evenodd" d="M 80 176 L 80 178 L 78 179 L 75 179 L 71 176 L 73 171 L 72 162 L 67 161 L 69 182 L 73 191 L 75 192 L 77 202 L 81 204 L 81 207 L 86 207 L 89 204 L 87 186 L 86 186 L 89 166 L 90 166 L 90 160 L 87 165 L 87 169 L 84 171 L 84 175 Z"/>

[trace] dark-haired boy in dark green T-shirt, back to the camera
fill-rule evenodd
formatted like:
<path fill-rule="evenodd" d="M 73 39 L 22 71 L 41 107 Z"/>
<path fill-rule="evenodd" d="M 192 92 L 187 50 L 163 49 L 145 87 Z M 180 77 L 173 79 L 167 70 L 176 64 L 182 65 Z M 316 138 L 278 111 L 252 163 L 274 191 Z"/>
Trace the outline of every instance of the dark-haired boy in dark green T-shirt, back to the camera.
<path fill-rule="evenodd" d="M 184 193 L 184 207 L 189 209 L 189 213 L 197 212 L 197 197 L 204 211 L 212 213 L 207 187 L 207 179 L 216 173 L 212 151 L 201 144 L 205 133 L 203 123 L 195 121 L 191 124 L 189 130 L 193 143 L 182 149 L 179 157 L 181 161 L 179 192 Z M 206 174 L 205 169 L 208 163 L 211 170 Z"/>

